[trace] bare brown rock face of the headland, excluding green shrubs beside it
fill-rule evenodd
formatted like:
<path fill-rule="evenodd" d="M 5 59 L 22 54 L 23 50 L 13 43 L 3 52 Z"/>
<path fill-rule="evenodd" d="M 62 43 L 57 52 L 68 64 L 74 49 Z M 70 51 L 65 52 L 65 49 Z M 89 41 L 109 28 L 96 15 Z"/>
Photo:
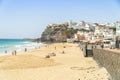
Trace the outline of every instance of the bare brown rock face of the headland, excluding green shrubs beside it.
<path fill-rule="evenodd" d="M 68 24 L 52 24 L 47 26 L 45 31 L 41 35 L 42 42 L 62 42 L 66 41 L 67 35 L 65 31 L 67 30 Z"/>

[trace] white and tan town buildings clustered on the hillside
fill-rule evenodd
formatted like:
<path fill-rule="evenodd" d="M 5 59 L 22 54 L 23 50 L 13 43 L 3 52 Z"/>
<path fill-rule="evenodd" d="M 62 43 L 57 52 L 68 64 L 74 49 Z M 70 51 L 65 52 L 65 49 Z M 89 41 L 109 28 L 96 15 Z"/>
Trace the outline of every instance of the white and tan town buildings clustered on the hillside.
<path fill-rule="evenodd" d="M 86 42 L 89 42 L 89 43 L 103 42 L 105 44 L 106 43 L 110 44 L 110 42 L 115 42 L 116 38 L 119 38 L 119 35 L 120 35 L 120 31 L 119 31 L 120 23 L 119 22 L 111 23 L 111 24 L 110 23 L 90 24 L 86 22 L 80 22 L 76 25 L 72 25 L 70 23 L 70 27 L 74 29 L 80 29 L 80 30 L 83 29 L 82 31 L 78 31 L 75 34 L 74 40 L 76 41 L 86 40 Z M 109 47 L 109 46 L 105 45 L 105 47 Z M 115 47 L 115 43 L 113 47 Z"/>

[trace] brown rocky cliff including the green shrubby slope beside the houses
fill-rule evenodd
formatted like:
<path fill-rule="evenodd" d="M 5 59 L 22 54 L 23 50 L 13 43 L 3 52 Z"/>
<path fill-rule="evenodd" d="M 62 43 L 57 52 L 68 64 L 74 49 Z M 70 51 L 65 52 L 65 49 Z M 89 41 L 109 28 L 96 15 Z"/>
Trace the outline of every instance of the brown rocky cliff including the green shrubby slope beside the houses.
<path fill-rule="evenodd" d="M 67 38 L 73 38 L 78 30 L 68 26 L 68 23 L 47 26 L 41 35 L 41 42 L 65 42 Z"/>

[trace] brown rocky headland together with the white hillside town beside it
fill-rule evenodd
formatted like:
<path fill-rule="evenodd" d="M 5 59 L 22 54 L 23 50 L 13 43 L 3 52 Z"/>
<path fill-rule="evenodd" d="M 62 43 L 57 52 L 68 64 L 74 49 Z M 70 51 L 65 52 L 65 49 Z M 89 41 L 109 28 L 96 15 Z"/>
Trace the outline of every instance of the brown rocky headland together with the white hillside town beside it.
<path fill-rule="evenodd" d="M 82 41 L 103 43 L 106 48 L 119 48 L 120 22 L 100 24 L 69 21 L 63 24 L 51 24 L 47 28 L 49 29 L 46 29 L 41 37 L 43 42 Z"/>

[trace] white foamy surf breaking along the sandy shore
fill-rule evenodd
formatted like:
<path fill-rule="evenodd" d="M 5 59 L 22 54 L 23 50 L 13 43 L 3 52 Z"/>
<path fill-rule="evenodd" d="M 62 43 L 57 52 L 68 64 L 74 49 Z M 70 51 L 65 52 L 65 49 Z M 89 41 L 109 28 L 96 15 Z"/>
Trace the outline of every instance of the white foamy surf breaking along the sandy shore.
<path fill-rule="evenodd" d="M 13 50 L 16 50 L 17 52 L 24 52 L 25 48 L 27 48 L 27 50 L 32 50 L 40 48 L 42 46 L 42 43 L 34 42 L 25 42 L 25 44 L 0 45 L 0 52 L 5 53 L 6 50 L 9 53 L 11 53 Z"/>

